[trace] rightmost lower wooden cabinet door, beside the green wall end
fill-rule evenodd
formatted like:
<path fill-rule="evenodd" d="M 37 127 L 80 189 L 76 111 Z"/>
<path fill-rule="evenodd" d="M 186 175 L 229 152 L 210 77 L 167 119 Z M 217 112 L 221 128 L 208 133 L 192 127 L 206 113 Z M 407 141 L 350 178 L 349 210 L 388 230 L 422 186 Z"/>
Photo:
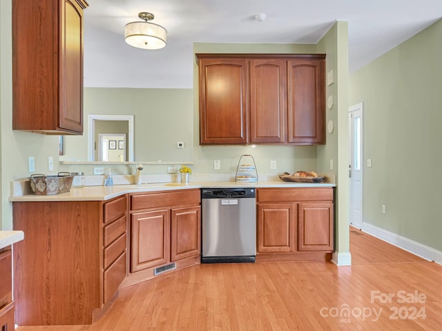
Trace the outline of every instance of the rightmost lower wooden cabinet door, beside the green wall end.
<path fill-rule="evenodd" d="M 298 250 L 332 251 L 333 203 L 298 204 Z"/>

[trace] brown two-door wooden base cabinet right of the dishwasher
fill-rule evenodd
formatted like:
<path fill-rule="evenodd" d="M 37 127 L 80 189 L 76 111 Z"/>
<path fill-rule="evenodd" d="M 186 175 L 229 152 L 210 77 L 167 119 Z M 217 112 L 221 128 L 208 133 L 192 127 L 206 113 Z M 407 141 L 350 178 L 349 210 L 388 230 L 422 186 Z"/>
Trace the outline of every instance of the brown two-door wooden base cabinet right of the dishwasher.
<path fill-rule="evenodd" d="M 258 188 L 257 202 L 258 260 L 331 259 L 333 188 Z"/>

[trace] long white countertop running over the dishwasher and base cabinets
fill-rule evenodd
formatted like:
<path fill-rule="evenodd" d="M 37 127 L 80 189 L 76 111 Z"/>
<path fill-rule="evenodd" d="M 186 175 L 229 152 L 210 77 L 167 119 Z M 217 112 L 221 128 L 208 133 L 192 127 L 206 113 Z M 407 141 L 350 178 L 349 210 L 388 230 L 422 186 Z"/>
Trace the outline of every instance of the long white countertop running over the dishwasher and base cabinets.
<path fill-rule="evenodd" d="M 149 183 L 113 186 L 86 186 L 71 188 L 70 192 L 57 195 L 26 194 L 12 196 L 9 201 L 106 201 L 119 195 L 133 192 L 153 192 L 164 190 L 183 190 L 189 188 L 332 188 L 334 183 L 289 183 L 285 181 L 258 181 L 237 183 L 235 181 L 204 181 L 189 183 Z"/>

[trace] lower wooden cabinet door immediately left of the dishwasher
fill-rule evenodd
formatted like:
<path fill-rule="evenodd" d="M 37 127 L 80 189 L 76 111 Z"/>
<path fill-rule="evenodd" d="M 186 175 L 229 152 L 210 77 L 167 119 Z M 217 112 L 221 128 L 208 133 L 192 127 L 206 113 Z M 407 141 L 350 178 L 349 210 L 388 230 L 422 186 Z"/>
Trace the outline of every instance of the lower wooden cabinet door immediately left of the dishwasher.
<path fill-rule="evenodd" d="M 201 254 L 201 207 L 171 212 L 171 261 Z"/>

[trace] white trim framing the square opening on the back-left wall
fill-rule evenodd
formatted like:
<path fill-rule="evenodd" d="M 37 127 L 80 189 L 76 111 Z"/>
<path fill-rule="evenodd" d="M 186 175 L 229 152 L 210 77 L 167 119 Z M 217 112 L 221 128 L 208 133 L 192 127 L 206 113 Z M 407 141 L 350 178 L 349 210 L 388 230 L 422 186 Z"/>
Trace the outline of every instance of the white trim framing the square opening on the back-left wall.
<path fill-rule="evenodd" d="M 133 115 L 89 115 L 88 116 L 88 161 L 95 161 L 95 120 L 100 121 L 128 121 L 128 137 L 127 137 L 127 148 L 128 148 L 128 161 L 133 161 Z"/>

